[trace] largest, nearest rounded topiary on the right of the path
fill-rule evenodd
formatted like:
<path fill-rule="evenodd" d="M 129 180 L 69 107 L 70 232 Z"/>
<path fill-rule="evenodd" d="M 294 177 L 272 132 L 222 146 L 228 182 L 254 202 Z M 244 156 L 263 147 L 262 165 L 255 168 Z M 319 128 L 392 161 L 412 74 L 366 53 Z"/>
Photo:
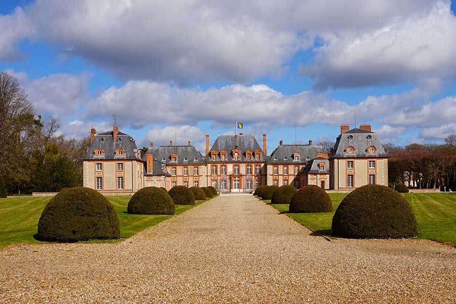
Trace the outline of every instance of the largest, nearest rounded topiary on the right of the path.
<path fill-rule="evenodd" d="M 382 185 L 355 189 L 340 203 L 332 218 L 335 236 L 357 239 L 414 237 L 415 215 L 405 198 Z"/>

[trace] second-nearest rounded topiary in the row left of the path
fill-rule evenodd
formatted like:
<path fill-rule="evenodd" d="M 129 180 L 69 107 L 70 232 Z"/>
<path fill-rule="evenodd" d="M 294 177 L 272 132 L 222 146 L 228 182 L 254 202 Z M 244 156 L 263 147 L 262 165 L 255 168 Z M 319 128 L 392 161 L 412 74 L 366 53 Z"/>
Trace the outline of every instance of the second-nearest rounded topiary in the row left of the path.
<path fill-rule="evenodd" d="M 174 202 L 163 189 L 144 187 L 131 197 L 127 211 L 133 214 L 174 214 Z"/>

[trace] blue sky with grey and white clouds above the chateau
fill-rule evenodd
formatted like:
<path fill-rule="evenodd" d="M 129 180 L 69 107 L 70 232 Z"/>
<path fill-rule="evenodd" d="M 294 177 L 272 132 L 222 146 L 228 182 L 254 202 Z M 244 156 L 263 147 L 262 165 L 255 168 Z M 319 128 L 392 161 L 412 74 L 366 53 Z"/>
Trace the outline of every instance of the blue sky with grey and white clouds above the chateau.
<path fill-rule="evenodd" d="M 254 134 L 268 151 L 371 124 L 382 142 L 456 133 L 455 6 L 443 0 L 4 0 L 0 71 L 68 137 L 138 146 Z"/>

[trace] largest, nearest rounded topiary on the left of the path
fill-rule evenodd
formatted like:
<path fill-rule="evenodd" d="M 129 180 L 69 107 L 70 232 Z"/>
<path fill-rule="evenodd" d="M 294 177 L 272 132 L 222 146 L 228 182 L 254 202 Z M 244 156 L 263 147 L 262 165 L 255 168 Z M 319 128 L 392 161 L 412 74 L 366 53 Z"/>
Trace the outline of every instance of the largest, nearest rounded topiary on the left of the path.
<path fill-rule="evenodd" d="M 41 213 L 38 238 L 77 242 L 120 237 L 114 207 L 100 193 L 87 187 L 67 188 L 54 196 Z"/>

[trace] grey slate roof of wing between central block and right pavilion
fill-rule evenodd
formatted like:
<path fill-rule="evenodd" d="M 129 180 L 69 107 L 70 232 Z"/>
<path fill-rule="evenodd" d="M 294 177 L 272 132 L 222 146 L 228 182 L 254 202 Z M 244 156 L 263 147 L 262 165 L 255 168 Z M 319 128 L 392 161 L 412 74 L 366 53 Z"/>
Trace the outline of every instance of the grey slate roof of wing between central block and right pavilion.
<path fill-rule="evenodd" d="M 293 154 L 299 153 L 299 161 L 294 161 Z M 309 144 L 283 144 L 279 145 L 271 153 L 268 163 L 272 164 L 303 164 L 317 157 L 317 153 L 324 153 L 321 145 Z M 276 160 L 274 158 L 277 158 Z M 284 159 L 286 158 L 286 159 Z"/>

